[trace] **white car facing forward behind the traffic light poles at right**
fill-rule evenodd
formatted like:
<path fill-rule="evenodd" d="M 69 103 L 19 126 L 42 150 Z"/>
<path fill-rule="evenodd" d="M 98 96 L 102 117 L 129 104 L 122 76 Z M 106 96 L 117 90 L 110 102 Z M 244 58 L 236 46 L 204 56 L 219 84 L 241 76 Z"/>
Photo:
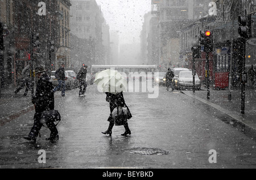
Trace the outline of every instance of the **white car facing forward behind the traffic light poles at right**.
<path fill-rule="evenodd" d="M 195 76 L 195 86 L 197 90 L 201 90 L 201 81 L 199 77 Z M 181 71 L 177 77 L 177 89 L 193 89 L 193 75 L 192 71 Z"/>

